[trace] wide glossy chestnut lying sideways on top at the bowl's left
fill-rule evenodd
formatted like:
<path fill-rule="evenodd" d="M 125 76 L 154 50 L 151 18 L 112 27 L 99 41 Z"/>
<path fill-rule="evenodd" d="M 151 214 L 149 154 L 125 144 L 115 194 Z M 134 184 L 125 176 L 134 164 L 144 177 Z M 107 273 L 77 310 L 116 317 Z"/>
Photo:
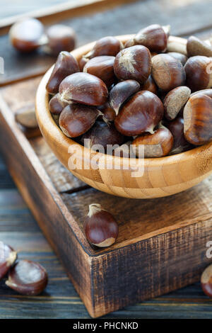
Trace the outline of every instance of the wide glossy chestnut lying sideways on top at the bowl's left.
<path fill-rule="evenodd" d="M 100 106 L 107 102 L 106 84 L 88 73 L 74 73 L 66 77 L 59 85 L 61 101 Z"/>

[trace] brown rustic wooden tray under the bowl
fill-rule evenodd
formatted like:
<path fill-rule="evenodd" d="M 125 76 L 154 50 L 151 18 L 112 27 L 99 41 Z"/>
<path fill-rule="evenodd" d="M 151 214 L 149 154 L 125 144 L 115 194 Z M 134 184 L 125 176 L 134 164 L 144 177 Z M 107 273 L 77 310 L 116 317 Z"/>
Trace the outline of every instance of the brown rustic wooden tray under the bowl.
<path fill-rule="evenodd" d="M 92 317 L 199 280 L 211 259 L 212 176 L 175 196 L 117 198 L 62 166 L 42 137 L 25 136 L 13 113 L 33 103 L 40 78 L 1 88 L 0 140 L 8 169 Z M 11 98 L 12 96 L 12 98 Z M 116 244 L 90 247 L 83 220 L 100 203 L 119 221 Z"/>

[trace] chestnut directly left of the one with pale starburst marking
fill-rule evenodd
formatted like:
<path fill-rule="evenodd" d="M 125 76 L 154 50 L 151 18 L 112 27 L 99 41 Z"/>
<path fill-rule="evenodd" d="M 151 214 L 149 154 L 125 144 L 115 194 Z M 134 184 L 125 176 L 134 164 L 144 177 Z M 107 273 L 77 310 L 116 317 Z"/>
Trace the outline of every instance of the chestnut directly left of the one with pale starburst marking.
<path fill-rule="evenodd" d="M 114 57 L 101 55 L 90 59 L 83 67 L 83 72 L 99 77 L 107 86 L 111 86 L 116 81 L 113 70 Z"/>

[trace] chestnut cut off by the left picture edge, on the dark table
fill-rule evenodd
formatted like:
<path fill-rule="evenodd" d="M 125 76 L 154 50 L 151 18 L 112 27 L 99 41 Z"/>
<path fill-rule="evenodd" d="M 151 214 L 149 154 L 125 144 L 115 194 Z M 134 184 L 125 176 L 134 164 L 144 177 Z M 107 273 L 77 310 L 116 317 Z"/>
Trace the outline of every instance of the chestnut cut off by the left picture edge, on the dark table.
<path fill-rule="evenodd" d="M 9 245 L 0 242 L 0 280 L 4 278 L 6 273 L 17 259 L 17 253 Z"/>

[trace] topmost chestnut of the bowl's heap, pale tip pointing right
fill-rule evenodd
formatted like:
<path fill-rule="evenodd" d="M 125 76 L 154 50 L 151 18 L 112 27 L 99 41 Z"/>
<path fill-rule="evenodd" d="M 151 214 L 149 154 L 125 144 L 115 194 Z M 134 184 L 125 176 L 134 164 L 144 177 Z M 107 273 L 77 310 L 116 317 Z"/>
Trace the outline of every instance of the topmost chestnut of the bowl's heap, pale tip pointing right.
<path fill-rule="evenodd" d="M 134 38 L 126 42 L 124 47 L 132 45 L 144 45 L 148 47 L 151 52 L 165 52 L 167 48 L 167 35 L 170 27 L 162 27 L 158 24 L 153 24 L 143 28 L 136 33 Z"/>

